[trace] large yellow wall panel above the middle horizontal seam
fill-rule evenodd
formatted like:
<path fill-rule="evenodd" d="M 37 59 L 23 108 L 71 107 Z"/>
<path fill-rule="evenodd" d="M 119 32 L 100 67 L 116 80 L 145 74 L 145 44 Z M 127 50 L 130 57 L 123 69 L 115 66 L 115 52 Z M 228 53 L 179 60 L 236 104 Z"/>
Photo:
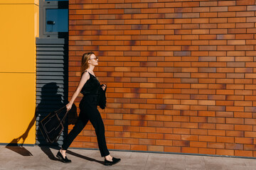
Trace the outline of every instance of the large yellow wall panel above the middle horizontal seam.
<path fill-rule="evenodd" d="M 38 6 L 0 4 L 0 23 L 0 72 L 36 72 Z"/>

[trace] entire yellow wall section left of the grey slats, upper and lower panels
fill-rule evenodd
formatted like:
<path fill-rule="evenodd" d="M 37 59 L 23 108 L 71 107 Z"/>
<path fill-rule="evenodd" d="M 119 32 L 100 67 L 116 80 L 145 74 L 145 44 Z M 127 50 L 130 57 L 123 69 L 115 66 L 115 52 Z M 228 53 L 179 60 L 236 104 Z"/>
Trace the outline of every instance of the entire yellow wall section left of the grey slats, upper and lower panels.
<path fill-rule="evenodd" d="M 0 1 L 0 143 L 36 142 L 38 18 L 36 0 Z"/>

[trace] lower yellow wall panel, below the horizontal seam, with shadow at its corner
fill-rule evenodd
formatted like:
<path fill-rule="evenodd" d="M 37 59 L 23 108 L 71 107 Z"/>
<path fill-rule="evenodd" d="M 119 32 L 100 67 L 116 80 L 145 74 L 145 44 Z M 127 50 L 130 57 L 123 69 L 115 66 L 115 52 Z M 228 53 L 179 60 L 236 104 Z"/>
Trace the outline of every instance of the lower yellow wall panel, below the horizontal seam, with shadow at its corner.
<path fill-rule="evenodd" d="M 0 73 L 0 143 L 36 142 L 36 74 Z"/>

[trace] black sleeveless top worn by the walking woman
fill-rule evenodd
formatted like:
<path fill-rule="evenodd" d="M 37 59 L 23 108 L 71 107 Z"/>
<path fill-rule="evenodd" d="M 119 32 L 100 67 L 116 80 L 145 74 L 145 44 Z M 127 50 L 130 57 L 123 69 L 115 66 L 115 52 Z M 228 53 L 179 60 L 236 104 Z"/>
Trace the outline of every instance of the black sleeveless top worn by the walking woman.
<path fill-rule="evenodd" d="M 87 72 L 87 71 L 85 71 Z M 84 74 L 83 72 L 82 74 Z M 81 94 L 84 96 L 87 94 L 99 94 L 100 93 L 100 82 L 97 80 L 95 76 L 90 74 L 90 78 L 86 81 L 85 85 L 82 87 L 82 90 L 80 91 Z"/>

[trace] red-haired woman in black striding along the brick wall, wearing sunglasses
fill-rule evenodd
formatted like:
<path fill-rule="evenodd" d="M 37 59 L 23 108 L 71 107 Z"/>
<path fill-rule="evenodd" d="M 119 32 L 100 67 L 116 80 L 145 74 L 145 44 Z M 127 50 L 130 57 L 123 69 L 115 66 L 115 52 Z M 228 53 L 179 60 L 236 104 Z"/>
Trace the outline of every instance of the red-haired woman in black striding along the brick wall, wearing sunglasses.
<path fill-rule="evenodd" d="M 117 162 L 121 160 L 110 156 L 105 140 L 104 124 L 100 112 L 97 110 L 100 91 L 105 92 L 107 88 L 105 84 L 101 86 L 100 82 L 95 77 L 93 69 L 97 64 L 98 58 L 93 52 L 87 52 L 82 55 L 80 83 L 78 84 L 78 88 L 73 94 L 70 102 L 66 105 L 66 108 L 69 111 L 75 101 L 75 98 L 77 98 L 79 93 L 82 93 L 83 97 L 79 104 L 80 114 L 73 130 L 71 130 L 68 136 L 65 137 L 63 145 L 57 154 L 57 157 L 62 162 L 71 162 L 71 160 L 66 157 L 65 153 L 75 137 L 77 137 L 82 129 L 85 128 L 88 120 L 90 120 L 90 123 L 92 123 L 92 126 L 95 128 L 100 154 L 102 157 L 105 157 L 105 165 L 117 164 Z"/>

